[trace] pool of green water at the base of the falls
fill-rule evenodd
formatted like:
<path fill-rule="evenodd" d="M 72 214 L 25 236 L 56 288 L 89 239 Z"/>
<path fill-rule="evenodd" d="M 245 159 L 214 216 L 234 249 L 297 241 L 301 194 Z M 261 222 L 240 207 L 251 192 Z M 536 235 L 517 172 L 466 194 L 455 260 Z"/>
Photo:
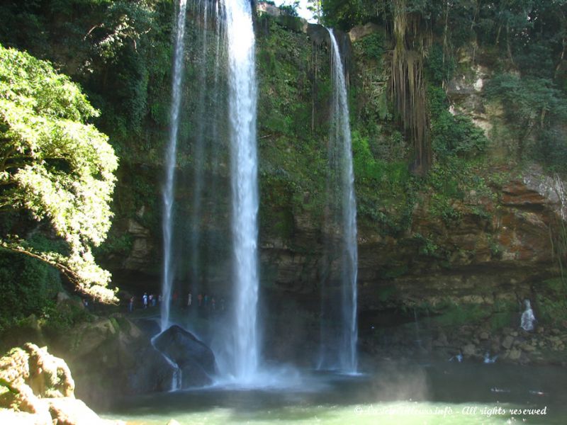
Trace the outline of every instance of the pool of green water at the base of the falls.
<path fill-rule="evenodd" d="M 383 365 L 359 376 L 303 372 L 281 386 L 218 385 L 120 399 L 102 416 L 131 425 L 567 424 L 561 367 Z"/>

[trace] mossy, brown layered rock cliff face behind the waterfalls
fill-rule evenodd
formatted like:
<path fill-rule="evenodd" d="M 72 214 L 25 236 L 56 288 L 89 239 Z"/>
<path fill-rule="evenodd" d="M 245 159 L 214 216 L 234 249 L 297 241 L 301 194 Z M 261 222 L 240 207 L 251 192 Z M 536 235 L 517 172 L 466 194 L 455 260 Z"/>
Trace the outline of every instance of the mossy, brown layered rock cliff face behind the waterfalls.
<path fill-rule="evenodd" d="M 269 356 L 306 361 L 301 352 L 311 343 L 305 341 L 312 341 L 313 349 L 317 346 L 320 299 L 335 297 L 332 282 L 321 293 L 323 280 L 335 267 L 324 261 L 325 242 L 332 237 L 325 234 L 324 223 L 329 40 L 325 28 L 285 16 L 261 14 L 256 28 L 259 252 L 262 300 L 270 312 L 263 317 L 266 334 L 284 336 L 266 346 Z M 364 329 L 385 322 L 401 326 L 403 335 L 414 313 L 432 314 L 443 326 L 458 327 L 459 320 L 451 324 L 456 310 L 465 315 L 482 311 L 466 321 L 498 332 L 517 326 L 522 301 L 529 298 L 538 315 L 552 316 L 556 305 L 549 302 L 558 289 L 545 282 L 558 276 L 562 255 L 563 183 L 546 176 L 537 164 L 510 162 L 514 152 L 503 119 L 507 106 L 489 100 L 483 91 L 490 67 L 467 62 L 464 52 L 459 72 L 443 94 L 444 108 L 459 119 L 470 118 L 488 137 L 488 146 L 481 154 L 463 157 L 439 154 L 430 176 L 421 179 L 408 170 L 408 141 L 388 105 L 391 42 L 383 28 L 357 27 L 339 33 L 339 40 L 351 91 L 363 345 L 373 346 L 376 337 L 365 336 Z M 187 91 L 196 90 L 195 81 L 187 84 Z M 190 120 L 198 119 L 191 115 Z M 189 137 L 187 142 L 191 146 L 195 141 Z M 218 166 L 205 166 L 206 179 L 219 183 L 202 201 L 207 213 L 200 223 L 201 238 L 208 244 L 198 283 L 191 278 L 186 244 L 192 234 L 187 220 L 193 213 L 194 166 L 179 164 L 175 227 L 185 236 L 176 245 L 177 288 L 184 293 L 197 287 L 230 298 L 228 161 L 221 157 Z M 157 291 L 162 259 L 158 182 L 163 169 L 161 164 L 128 160 L 122 172 L 111 240 L 126 243 L 119 246 L 121 251 L 109 249 L 104 258 L 118 285 L 136 290 L 134 282 L 142 281 Z M 140 187 L 145 195 L 133 196 Z"/>

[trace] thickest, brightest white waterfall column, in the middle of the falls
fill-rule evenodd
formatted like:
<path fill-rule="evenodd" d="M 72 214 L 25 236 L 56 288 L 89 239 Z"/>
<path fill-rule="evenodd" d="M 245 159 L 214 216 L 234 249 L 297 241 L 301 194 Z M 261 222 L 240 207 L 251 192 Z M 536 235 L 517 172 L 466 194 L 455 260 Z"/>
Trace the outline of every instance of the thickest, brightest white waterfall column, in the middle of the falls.
<path fill-rule="evenodd" d="M 258 368 L 258 183 L 256 72 L 249 0 L 225 2 L 229 62 L 232 238 L 235 279 L 233 375 L 250 382 Z"/>

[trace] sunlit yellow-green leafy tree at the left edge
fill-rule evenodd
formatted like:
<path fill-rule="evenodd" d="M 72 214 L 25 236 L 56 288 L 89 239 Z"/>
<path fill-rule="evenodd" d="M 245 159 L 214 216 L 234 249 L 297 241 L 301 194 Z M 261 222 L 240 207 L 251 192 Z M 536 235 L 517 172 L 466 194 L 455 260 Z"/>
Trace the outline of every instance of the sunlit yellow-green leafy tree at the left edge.
<path fill-rule="evenodd" d="M 51 64 L 0 45 L 0 212 L 26 210 L 48 223 L 67 249 L 34 249 L 0 234 L 0 246 L 55 266 L 79 290 L 110 302 L 110 273 L 91 253 L 111 225 L 118 159 L 79 86 Z M 16 227 L 17 228 L 17 227 Z"/>

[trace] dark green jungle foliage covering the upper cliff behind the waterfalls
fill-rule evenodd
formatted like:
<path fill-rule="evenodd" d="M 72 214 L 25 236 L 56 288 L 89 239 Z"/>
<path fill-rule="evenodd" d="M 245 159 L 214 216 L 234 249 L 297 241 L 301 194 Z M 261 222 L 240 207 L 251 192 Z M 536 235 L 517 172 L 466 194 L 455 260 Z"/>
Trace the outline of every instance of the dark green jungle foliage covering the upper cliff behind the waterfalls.
<path fill-rule="evenodd" d="M 88 95 L 93 105 L 81 106 L 84 110 L 79 108 L 73 116 L 59 116 L 54 110 L 57 116 L 48 118 L 78 118 L 82 125 L 94 124 L 109 136 L 120 157 L 117 172 L 121 185 L 113 212 L 120 218 L 135 218 L 157 234 L 160 200 L 156 174 L 161 170 L 167 140 L 175 3 L 0 2 L 0 42 L 49 60 L 53 69 L 80 84 L 81 90 L 72 85 L 74 90 Z M 483 93 L 487 98 L 518 105 L 506 109 L 505 120 L 520 159 L 537 159 L 554 171 L 567 171 L 566 142 L 560 137 L 567 90 L 566 0 L 313 0 L 311 4 L 329 27 L 349 30 L 368 22 L 379 26 L 376 33 L 354 42 L 348 58 L 352 59 L 349 92 L 360 227 L 402 234 L 411 227 L 420 192 L 432 193 L 432 215 L 451 223 L 459 220 L 455 200 L 463 200 L 473 189 L 489 192 L 477 172 L 479 163 L 486 159 L 488 139 L 469 118 L 449 112 L 444 90 L 455 72 L 463 71 L 461 52 L 471 57 L 466 67 L 483 64 L 495 71 Z M 293 15 L 293 7 L 286 11 Z M 325 42 L 308 40 L 269 17 L 259 17 L 256 26 L 261 234 L 274 232 L 293 241 L 298 220 L 308 215 L 311 222 L 317 222 L 324 213 L 329 52 Z M 190 26 L 188 31 L 196 29 Z M 190 111 L 196 70 L 194 52 L 188 51 L 187 56 L 186 78 L 193 86 L 187 84 L 189 104 L 184 109 Z M 64 84 L 71 84 L 70 80 L 64 79 Z M 67 108 L 67 104 L 53 105 Z M 18 107 L 34 108 L 28 103 Z M 12 115 L 16 115 L 14 119 L 19 116 Z M 190 132 L 191 125 L 184 123 L 180 131 L 187 142 L 184 145 L 190 145 Z M 96 133 L 92 135 L 101 140 Z M 182 154 L 190 157 L 190 152 Z M 50 169 L 45 172 L 57 171 L 57 179 L 70 170 L 67 159 L 46 158 Z M 186 166 L 191 159 L 183 161 L 180 164 Z M 13 179 L 14 171 L 11 173 Z M 146 212 L 137 215 L 140 210 Z M 2 217 L 3 236 L 13 233 L 15 213 Z M 17 219 L 19 234 L 33 234 L 38 227 L 34 217 L 26 214 Z M 103 215 L 106 220 L 106 210 Z M 51 242 L 61 239 L 53 231 L 50 234 L 49 220 L 47 216 L 40 221 L 37 231 L 47 234 Z M 97 232 L 106 232 L 106 226 Z M 40 249 L 37 239 L 26 237 L 26 241 L 18 242 L 25 249 Z M 89 236 L 79 237 L 79 242 L 95 241 Z M 117 237 L 100 252 L 122 256 L 131 244 Z M 59 256 L 72 251 L 60 244 L 43 249 Z M 38 276 L 45 273 L 32 266 L 29 270 Z M 13 280 L 13 276 L 6 276 L 6 280 Z M 55 287 L 53 283 L 51 288 Z M 30 293 L 33 295 L 33 290 Z M 30 301 L 35 307 L 21 314 L 40 309 L 34 303 Z"/>

